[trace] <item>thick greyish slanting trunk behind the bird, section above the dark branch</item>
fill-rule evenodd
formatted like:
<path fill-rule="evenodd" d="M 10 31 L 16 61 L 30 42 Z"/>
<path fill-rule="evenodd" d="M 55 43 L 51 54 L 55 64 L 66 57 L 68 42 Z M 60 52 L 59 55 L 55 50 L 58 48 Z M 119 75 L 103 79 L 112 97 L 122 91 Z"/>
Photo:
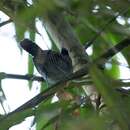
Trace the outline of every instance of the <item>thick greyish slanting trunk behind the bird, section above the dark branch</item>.
<path fill-rule="evenodd" d="M 72 59 L 74 71 L 80 69 L 83 64 L 88 62 L 88 55 L 84 47 L 80 44 L 71 25 L 65 19 L 65 16 L 57 11 L 48 11 L 46 16 L 43 15 L 44 26 L 58 47 L 67 48 Z M 58 21 L 58 22 L 57 22 Z"/>

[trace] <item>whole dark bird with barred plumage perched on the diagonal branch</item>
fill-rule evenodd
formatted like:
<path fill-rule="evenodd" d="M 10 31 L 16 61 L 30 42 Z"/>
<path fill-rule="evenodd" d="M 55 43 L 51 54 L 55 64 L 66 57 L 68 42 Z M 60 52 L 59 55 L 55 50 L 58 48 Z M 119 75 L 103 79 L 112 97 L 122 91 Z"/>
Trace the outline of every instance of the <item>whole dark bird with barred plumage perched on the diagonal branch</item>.
<path fill-rule="evenodd" d="M 60 53 L 42 50 L 29 39 L 24 39 L 20 45 L 32 55 L 35 67 L 49 85 L 57 83 L 73 72 L 72 61 L 66 48 L 62 48 Z"/>

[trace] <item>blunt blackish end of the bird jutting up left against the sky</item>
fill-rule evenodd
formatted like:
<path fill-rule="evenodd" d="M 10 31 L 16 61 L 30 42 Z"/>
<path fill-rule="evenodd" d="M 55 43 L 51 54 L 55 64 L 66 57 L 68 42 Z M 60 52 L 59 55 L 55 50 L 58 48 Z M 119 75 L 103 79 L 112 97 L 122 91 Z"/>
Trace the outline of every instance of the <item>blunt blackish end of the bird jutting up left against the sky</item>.
<path fill-rule="evenodd" d="M 20 45 L 25 51 L 27 51 L 32 56 L 36 56 L 38 51 L 41 51 L 41 48 L 29 39 L 24 39 L 20 42 Z"/>

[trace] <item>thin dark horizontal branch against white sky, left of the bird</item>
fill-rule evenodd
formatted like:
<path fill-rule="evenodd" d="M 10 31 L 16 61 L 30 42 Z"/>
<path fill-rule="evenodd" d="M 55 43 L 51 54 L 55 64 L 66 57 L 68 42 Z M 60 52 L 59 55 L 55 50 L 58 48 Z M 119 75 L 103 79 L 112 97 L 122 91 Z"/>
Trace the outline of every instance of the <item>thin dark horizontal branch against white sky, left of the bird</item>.
<path fill-rule="evenodd" d="M 2 76 L 1 76 L 2 75 Z M 21 80 L 32 80 L 32 81 L 44 81 L 44 79 L 40 76 L 34 76 L 34 75 L 18 75 L 18 74 L 7 74 L 7 73 L 0 73 L 0 76 L 2 79 L 21 79 Z"/>

